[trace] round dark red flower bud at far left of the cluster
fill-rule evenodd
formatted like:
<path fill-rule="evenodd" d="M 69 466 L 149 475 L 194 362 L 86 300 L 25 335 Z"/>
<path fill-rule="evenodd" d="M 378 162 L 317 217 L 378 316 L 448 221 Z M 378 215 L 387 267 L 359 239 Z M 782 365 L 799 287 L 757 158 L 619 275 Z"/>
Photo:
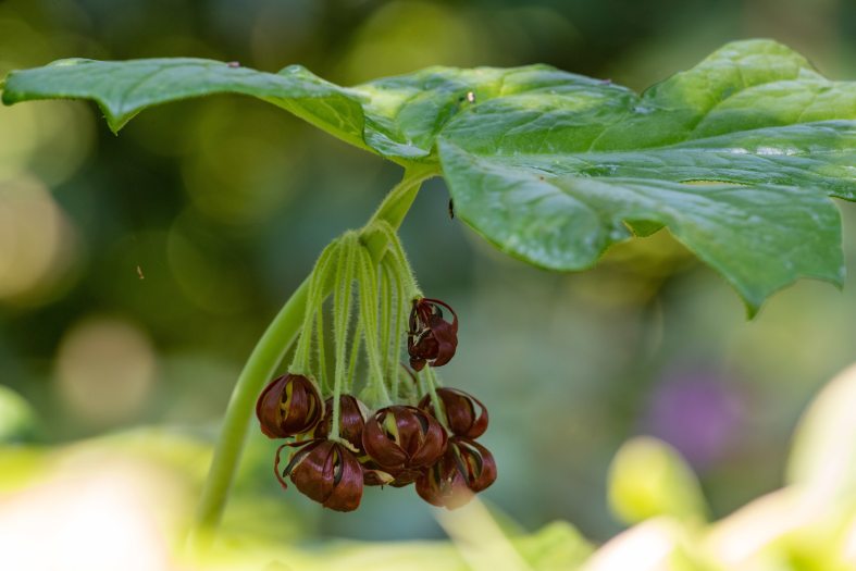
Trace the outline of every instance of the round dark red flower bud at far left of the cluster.
<path fill-rule="evenodd" d="M 318 424 L 324 406 L 315 384 L 303 375 L 274 378 L 256 402 L 261 432 L 269 438 L 303 434 Z"/>

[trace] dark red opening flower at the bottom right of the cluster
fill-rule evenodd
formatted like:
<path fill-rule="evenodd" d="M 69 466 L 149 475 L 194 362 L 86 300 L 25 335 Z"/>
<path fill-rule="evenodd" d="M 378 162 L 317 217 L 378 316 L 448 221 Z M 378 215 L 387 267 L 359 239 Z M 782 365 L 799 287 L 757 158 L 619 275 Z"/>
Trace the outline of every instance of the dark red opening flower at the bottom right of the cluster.
<path fill-rule="evenodd" d="M 419 496 L 439 508 L 460 508 L 496 480 L 491 451 L 468 438 L 449 438 L 446 454 L 417 479 Z"/>

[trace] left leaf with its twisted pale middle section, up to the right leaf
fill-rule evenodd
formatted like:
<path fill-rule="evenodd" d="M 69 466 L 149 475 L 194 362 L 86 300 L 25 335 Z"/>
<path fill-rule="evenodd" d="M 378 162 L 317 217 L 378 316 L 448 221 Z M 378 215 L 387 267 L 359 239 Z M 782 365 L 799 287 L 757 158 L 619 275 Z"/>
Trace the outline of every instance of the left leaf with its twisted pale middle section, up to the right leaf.
<path fill-rule="evenodd" d="M 521 70 L 530 69 L 551 70 L 545 66 Z M 119 132 L 149 107 L 194 97 L 238 94 L 273 103 L 347 142 L 386 158 L 436 162 L 434 142 L 443 126 L 462 109 L 471 107 L 476 92 L 480 98 L 506 92 L 508 89 L 503 85 L 509 75 L 516 75 L 516 71 L 430 67 L 343 88 L 299 65 L 273 74 L 193 58 L 119 62 L 66 59 L 9 74 L 3 102 L 90 99 L 101 108 L 110 128 Z"/>

